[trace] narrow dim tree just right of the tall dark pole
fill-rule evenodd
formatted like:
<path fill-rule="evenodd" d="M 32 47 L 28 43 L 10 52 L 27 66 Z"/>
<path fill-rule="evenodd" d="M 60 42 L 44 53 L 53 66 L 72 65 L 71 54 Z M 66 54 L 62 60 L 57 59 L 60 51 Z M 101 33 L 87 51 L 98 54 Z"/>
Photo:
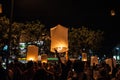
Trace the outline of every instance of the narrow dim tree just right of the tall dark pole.
<path fill-rule="evenodd" d="M 19 43 L 20 43 L 20 36 L 24 29 L 23 23 L 14 22 L 12 24 L 11 29 L 11 54 L 18 55 L 19 53 Z"/>

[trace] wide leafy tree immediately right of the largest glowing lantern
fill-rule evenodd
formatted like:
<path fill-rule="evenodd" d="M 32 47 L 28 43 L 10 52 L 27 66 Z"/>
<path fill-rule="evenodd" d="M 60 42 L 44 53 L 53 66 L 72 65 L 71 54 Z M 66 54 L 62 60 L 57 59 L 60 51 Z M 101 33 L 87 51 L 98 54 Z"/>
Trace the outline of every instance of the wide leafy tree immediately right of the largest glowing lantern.
<path fill-rule="evenodd" d="M 71 54 L 78 55 L 89 50 L 97 51 L 103 40 L 103 32 L 90 30 L 84 26 L 69 30 L 69 49 Z"/>

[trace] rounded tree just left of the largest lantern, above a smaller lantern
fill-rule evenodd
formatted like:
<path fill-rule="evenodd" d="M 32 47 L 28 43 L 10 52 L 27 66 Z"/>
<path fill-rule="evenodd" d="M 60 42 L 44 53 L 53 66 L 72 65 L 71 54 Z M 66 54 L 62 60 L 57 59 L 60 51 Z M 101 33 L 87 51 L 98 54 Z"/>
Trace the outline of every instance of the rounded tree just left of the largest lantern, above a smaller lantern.
<path fill-rule="evenodd" d="M 49 31 L 45 28 L 45 25 L 40 23 L 39 20 L 27 22 L 24 30 L 22 31 L 21 40 L 23 42 L 32 42 L 32 44 L 39 47 L 39 53 L 41 49 L 48 50 L 49 45 Z M 43 41 L 43 45 L 41 45 Z"/>

